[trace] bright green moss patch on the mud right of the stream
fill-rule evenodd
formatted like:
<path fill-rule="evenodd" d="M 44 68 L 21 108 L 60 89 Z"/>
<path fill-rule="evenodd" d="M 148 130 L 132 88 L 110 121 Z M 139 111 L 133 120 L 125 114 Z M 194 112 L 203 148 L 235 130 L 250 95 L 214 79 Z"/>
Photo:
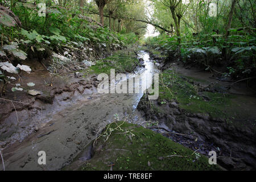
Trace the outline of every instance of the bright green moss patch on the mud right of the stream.
<path fill-rule="evenodd" d="M 203 96 L 197 92 L 197 86 L 191 84 L 192 80 L 184 78 L 172 71 L 164 71 L 160 75 L 159 100 L 177 100 L 182 109 L 191 113 L 205 113 L 212 117 L 228 117 L 226 107 L 231 105 L 230 94 L 203 92 Z M 195 80 L 193 80 L 195 81 Z M 168 89 L 167 89 L 168 87 Z"/>

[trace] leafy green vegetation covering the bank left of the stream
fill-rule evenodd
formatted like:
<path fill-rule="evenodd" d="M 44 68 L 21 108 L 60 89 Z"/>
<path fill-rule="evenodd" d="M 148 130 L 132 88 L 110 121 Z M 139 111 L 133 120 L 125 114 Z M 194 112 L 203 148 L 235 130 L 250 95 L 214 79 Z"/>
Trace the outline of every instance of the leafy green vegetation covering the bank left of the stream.
<path fill-rule="evenodd" d="M 130 56 L 114 55 L 108 57 L 109 60 L 101 59 L 110 52 L 138 42 L 145 32 L 145 23 L 130 22 L 116 16 L 125 13 L 143 17 L 143 4 L 119 0 L 108 2 L 104 13 L 111 11 L 114 21 L 112 23 L 110 18 L 106 26 L 103 22 L 98 23 L 99 17 L 94 15 L 97 13 L 96 4 L 84 0 L 1 1 L 1 96 L 22 90 L 19 88 L 22 82 L 16 83 L 18 86 L 14 84 L 11 90 L 7 90 L 7 85 L 18 80 L 22 73 L 16 68 L 17 63 L 30 69 L 34 64 L 32 60 L 42 64 L 52 76 L 84 72 L 80 67 L 84 65 L 83 61 L 97 62 L 91 69 L 95 70 L 94 73 L 100 70 L 108 72 L 109 68 L 131 72 L 138 60 Z M 137 11 L 141 14 L 137 15 Z M 44 60 L 50 61 L 45 63 Z M 24 61 L 26 65 L 22 64 Z"/>

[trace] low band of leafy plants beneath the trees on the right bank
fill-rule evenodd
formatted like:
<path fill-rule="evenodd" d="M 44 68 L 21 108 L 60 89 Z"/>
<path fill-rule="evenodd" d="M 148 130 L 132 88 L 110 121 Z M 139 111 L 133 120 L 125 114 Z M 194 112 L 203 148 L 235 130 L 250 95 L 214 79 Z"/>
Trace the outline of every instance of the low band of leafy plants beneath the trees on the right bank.
<path fill-rule="evenodd" d="M 232 28 L 229 31 L 227 39 L 224 35 L 212 32 L 183 36 L 182 42 L 178 44 L 176 36 L 162 34 L 148 38 L 147 44 L 166 53 L 179 47 L 185 64 L 197 63 L 207 69 L 213 65 L 224 66 L 228 72 L 228 67 L 232 67 L 233 71 L 229 76 L 255 76 L 255 28 Z"/>

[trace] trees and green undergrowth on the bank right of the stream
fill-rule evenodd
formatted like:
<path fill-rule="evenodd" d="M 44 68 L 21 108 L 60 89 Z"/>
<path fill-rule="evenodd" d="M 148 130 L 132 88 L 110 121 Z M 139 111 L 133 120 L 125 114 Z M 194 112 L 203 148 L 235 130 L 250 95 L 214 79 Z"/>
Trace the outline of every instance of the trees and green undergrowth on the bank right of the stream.
<path fill-rule="evenodd" d="M 162 28 L 146 44 L 171 57 L 176 53 L 184 64 L 222 67 L 223 77 L 256 76 L 255 1 L 152 0 L 152 6 Z"/>

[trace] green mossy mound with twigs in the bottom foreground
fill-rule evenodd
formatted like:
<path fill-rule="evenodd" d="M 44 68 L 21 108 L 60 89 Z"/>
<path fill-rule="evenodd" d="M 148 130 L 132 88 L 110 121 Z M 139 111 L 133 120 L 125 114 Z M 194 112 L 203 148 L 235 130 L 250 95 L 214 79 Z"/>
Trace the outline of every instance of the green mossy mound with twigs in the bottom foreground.
<path fill-rule="evenodd" d="M 112 134 L 106 140 L 110 131 Z M 200 155 L 196 159 L 198 154 L 193 154 L 189 148 L 154 131 L 127 122 L 110 124 L 104 135 L 97 140 L 94 150 L 96 152 L 93 158 L 80 169 L 109 170 L 111 164 L 114 164 L 113 170 L 220 169 L 216 165 L 209 165 L 205 156 Z"/>

